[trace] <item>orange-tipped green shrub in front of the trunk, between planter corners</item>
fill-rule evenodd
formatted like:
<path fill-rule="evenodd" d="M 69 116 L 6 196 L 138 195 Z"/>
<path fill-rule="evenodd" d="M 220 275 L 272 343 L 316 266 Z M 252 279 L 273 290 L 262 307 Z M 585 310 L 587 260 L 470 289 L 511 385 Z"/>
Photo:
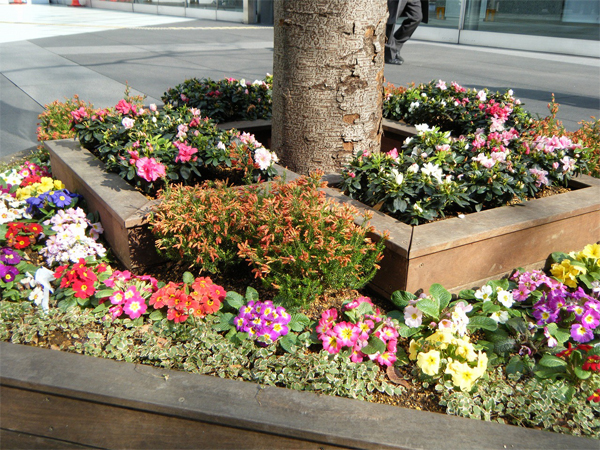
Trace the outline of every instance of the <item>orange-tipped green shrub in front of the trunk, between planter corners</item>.
<path fill-rule="evenodd" d="M 268 189 L 166 189 L 151 219 L 157 247 L 209 271 L 246 261 L 290 306 L 326 289 L 360 288 L 375 275 L 383 242 L 373 243 L 371 228 L 355 225 L 353 210 L 327 201 L 320 185 L 313 175 Z"/>

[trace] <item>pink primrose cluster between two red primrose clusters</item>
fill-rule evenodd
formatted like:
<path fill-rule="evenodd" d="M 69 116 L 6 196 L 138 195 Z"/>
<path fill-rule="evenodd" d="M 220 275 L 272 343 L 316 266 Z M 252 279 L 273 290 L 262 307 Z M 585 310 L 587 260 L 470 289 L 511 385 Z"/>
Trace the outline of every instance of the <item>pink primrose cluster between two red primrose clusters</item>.
<path fill-rule="evenodd" d="M 113 271 L 104 281 L 104 285 L 113 289 L 113 293 L 101 298 L 99 304 L 110 302 L 108 311 L 116 319 L 123 314 L 137 319 L 148 309 L 146 300 L 158 290 L 158 281 L 149 275 L 132 275 L 128 270 Z"/>

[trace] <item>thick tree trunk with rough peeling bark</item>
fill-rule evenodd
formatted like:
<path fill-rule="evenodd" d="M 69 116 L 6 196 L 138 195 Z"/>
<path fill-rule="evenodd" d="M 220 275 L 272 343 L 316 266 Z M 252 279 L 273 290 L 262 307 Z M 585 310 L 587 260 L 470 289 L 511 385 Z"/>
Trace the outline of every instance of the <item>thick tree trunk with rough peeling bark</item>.
<path fill-rule="evenodd" d="M 275 0 L 272 150 L 307 174 L 379 151 L 386 0 Z"/>

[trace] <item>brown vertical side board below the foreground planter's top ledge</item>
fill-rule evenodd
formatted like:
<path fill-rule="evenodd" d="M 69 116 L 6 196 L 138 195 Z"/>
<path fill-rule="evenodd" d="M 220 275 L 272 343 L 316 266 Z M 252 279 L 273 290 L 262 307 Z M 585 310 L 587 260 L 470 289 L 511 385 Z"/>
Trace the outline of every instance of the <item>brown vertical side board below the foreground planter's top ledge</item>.
<path fill-rule="evenodd" d="M 332 449 L 284 436 L 74 398 L 1 388 L 2 426 L 91 447 L 132 449 Z M 340 448 L 340 447 L 336 447 Z"/>

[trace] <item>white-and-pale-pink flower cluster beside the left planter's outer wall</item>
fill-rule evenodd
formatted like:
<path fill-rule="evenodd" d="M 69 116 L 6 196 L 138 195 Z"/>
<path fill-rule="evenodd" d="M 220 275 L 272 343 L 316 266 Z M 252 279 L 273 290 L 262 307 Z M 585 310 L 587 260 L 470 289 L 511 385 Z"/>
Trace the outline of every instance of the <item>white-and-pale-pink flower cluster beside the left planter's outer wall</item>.
<path fill-rule="evenodd" d="M 48 237 L 40 254 L 48 266 L 77 262 L 80 258 L 103 258 L 106 248 L 96 240 L 104 230 L 100 223 L 92 224 L 81 208 L 59 210 L 43 222 L 56 233 Z M 88 235 L 89 233 L 89 235 Z"/>

